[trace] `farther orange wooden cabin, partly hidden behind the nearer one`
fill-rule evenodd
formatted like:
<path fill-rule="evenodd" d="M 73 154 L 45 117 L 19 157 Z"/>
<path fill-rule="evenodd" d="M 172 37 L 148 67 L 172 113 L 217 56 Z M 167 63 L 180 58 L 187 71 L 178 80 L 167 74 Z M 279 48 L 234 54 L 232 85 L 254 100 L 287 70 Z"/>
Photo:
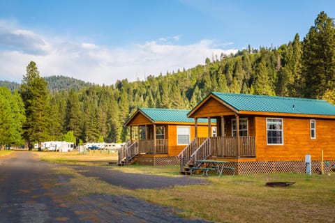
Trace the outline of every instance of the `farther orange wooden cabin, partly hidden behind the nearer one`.
<path fill-rule="evenodd" d="M 216 124 L 198 119 L 197 131 L 190 110 L 140 108 L 128 119 L 131 141 L 119 149 L 121 164 L 179 164 L 177 155 L 198 137 L 216 136 Z M 208 128 L 208 125 L 211 127 Z"/>

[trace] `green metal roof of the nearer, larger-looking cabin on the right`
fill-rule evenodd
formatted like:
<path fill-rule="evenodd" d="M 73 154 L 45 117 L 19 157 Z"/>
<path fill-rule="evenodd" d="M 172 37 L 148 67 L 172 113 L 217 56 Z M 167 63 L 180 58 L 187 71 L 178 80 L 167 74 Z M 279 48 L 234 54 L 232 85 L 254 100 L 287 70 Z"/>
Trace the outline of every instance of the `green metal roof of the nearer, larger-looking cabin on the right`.
<path fill-rule="evenodd" d="M 211 94 L 237 111 L 335 116 L 335 106 L 325 100 L 222 92 Z"/>

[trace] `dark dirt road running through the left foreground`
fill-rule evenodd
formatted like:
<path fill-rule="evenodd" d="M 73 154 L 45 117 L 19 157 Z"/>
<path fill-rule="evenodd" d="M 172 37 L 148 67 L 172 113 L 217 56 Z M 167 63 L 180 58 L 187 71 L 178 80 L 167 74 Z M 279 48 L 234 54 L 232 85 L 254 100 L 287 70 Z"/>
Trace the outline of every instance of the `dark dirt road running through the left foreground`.
<path fill-rule="evenodd" d="M 0 222 L 207 222 L 130 196 L 93 194 L 69 202 L 67 188 L 54 185 L 70 176 L 51 167 L 29 152 L 0 159 Z"/>

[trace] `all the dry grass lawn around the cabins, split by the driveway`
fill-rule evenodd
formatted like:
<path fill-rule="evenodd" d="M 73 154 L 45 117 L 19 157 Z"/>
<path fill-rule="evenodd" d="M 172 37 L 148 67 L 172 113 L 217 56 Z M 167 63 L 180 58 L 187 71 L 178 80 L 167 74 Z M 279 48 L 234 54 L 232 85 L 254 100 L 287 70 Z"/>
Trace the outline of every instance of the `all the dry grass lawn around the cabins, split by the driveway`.
<path fill-rule="evenodd" d="M 100 151 L 85 155 L 75 152 L 37 154 L 43 160 L 51 162 L 92 164 L 138 174 L 176 177 L 179 172 L 178 166 L 110 166 L 107 162 L 117 160 L 117 155 Z M 209 176 L 206 179 L 210 185 L 178 186 L 164 190 L 126 190 L 96 178 L 84 177 L 69 167 L 57 171 L 75 176 L 70 182 L 75 196 L 90 193 L 129 194 L 182 210 L 179 215 L 202 217 L 214 222 L 334 222 L 335 219 L 335 173 L 322 176 Z M 269 181 L 294 181 L 295 184 L 289 187 L 266 187 L 265 183 Z"/>

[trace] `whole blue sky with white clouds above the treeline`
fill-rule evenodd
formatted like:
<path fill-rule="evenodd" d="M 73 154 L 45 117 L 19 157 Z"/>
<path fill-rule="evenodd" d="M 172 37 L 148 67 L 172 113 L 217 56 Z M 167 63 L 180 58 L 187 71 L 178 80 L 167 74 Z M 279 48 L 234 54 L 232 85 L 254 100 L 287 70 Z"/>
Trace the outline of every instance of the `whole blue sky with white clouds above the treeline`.
<path fill-rule="evenodd" d="M 0 0 L 0 80 L 41 76 L 114 84 L 203 64 L 248 45 L 301 40 L 335 1 Z"/>

